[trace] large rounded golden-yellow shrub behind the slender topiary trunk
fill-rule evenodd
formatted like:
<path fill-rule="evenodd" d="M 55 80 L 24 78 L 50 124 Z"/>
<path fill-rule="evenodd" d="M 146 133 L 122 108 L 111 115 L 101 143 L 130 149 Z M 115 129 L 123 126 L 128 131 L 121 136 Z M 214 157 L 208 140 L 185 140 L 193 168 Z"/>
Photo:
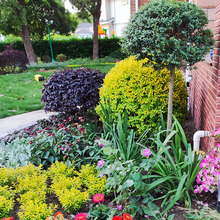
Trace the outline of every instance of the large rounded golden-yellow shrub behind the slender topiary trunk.
<path fill-rule="evenodd" d="M 129 57 L 106 75 L 100 88 L 100 102 L 110 100 L 112 116 L 117 120 L 118 112 L 123 114 L 127 109 L 129 127 L 136 128 L 139 133 L 146 129 L 156 131 L 160 125 L 160 111 L 167 116 L 170 71 L 156 71 L 149 59 L 137 60 Z M 103 118 L 101 106 L 96 108 Z M 183 76 L 176 70 L 173 94 L 173 114 L 183 122 L 187 114 L 187 89 Z"/>

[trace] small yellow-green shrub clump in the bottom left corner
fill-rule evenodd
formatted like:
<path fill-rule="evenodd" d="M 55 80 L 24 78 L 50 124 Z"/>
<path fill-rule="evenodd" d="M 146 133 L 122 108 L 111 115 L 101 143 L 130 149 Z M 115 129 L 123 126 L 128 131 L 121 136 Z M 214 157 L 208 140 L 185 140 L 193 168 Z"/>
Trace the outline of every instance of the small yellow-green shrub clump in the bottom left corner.
<path fill-rule="evenodd" d="M 0 219 L 7 218 L 14 207 L 14 201 L 0 195 Z"/>

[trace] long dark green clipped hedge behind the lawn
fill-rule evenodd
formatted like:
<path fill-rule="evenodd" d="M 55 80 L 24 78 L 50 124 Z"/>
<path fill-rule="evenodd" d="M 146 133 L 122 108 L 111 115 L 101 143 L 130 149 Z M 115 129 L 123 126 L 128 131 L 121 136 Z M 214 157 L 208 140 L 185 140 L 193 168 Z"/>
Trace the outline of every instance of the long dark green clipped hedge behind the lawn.
<path fill-rule="evenodd" d="M 48 40 L 33 41 L 35 54 L 38 57 L 50 54 L 50 45 Z M 5 50 L 8 43 L 0 43 L 0 53 Z M 53 55 L 56 57 L 59 54 L 64 54 L 69 58 L 85 58 L 92 57 L 93 42 L 92 39 L 70 39 L 70 40 L 54 40 L 52 41 Z M 24 50 L 23 41 L 14 42 L 14 49 Z M 120 48 L 119 38 L 99 39 L 99 57 L 108 56 L 110 53 Z"/>

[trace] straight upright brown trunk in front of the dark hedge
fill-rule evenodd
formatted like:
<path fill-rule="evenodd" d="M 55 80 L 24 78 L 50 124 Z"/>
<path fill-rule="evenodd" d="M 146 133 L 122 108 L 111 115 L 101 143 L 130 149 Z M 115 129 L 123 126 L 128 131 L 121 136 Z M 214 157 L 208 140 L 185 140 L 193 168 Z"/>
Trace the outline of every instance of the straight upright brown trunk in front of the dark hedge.
<path fill-rule="evenodd" d="M 101 0 L 97 0 L 96 12 L 93 13 L 93 60 L 99 58 L 99 36 L 98 36 L 98 25 L 99 18 L 101 15 Z"/>

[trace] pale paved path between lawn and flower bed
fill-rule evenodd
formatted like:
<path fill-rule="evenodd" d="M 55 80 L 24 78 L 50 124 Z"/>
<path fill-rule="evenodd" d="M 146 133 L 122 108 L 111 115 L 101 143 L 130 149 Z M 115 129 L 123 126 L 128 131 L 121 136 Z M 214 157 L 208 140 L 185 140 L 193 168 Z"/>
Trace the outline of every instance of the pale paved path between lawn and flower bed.
<path fill-rule="evenodd" d="M 40 119 L 49 118 L 49 116 L 53 114 L 56 113 L 48 112 L 46 114 L 44 110 L 39 110 L 0 119 L 0 138 L 9 133 L 31 126 Z"/>

